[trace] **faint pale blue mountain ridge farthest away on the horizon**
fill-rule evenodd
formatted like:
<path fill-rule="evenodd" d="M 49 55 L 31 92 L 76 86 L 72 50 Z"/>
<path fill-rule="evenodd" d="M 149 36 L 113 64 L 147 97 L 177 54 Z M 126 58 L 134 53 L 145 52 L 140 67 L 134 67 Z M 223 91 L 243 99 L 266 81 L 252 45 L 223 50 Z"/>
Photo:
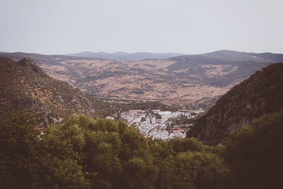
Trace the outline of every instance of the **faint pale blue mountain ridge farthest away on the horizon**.
<path fill-rule="evenodd" d="M 75 54 L 69 54 L 71 57 L 91 57 L 91 58 L 103 58 L 112 59 L 117 61 L 139 61 L 143 59 L 166 59 L 169 57 L 177 57 L 180 55 L 185 55 L 181 53 L 151 53 L 151 52 L 90 52 L 84 51 Z"/>

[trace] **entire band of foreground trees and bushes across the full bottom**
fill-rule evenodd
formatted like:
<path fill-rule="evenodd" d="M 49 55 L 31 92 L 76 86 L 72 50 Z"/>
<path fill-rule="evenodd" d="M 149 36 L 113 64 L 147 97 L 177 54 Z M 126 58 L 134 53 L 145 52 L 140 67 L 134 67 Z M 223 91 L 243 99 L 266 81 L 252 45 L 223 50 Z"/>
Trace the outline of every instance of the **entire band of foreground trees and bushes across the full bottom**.
<path fill-rule="evenodd" d="M 72 115 L 45 134 L 30 115 L 0 125 L 2 188 L 280 188 L 283 112 L 263 115 L 224 146 L 146 139 L 122 121 Z"/>

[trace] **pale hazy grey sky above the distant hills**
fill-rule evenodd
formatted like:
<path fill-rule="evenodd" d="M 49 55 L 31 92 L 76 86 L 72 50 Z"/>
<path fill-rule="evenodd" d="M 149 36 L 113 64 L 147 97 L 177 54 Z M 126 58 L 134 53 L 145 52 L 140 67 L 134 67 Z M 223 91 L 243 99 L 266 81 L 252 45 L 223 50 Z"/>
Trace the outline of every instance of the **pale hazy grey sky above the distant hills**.
<path fill-rule="evenodd" d="M 282 0 L 0 0 L 0 51 L 283 53 Z"/>

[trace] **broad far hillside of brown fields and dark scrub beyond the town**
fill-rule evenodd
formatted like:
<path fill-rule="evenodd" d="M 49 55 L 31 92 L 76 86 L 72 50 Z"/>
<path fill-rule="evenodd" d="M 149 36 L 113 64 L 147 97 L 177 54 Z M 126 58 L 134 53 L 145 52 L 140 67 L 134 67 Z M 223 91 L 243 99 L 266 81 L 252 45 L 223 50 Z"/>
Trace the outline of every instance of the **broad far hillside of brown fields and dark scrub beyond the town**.
<path fill-rule="evenodd" d="M 221 50 L 203 55 L 134 62 L 21 52 L 4 53 L 15 61 L 31 57 L 54 79 L 97 98 L 115 101 L 162 101 L 184 108 L 213 104 L 215 99 L 281 54 Z"/>

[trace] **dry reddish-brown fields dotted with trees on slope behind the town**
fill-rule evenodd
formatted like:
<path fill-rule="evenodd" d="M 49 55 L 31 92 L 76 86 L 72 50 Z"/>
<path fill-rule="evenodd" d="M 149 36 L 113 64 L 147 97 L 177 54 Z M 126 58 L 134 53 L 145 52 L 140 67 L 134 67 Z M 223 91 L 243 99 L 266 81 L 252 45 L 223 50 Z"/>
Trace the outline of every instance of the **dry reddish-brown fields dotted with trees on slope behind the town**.
<path fill-rule="evenodd" d="M 182 77 L 190 71 L 190 67 L 170 71 L 170 66 L 175 63 L 170 59 L 139 62 L 61 59 L 56 66 L 40 64 L 40 67 L 55 79 L 67 81 L 94 96 L 183 105 L 226 93 L 230 86 L 209 86 L 202 80 L 204 77 L 224 76 L 237 69 L 229 65 L 204 64 L 200 67 L 205 69 L 204 72 L 190 74 L 191 79 L 187 79 Z"/>

